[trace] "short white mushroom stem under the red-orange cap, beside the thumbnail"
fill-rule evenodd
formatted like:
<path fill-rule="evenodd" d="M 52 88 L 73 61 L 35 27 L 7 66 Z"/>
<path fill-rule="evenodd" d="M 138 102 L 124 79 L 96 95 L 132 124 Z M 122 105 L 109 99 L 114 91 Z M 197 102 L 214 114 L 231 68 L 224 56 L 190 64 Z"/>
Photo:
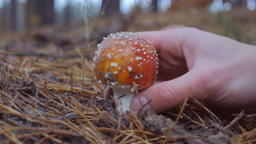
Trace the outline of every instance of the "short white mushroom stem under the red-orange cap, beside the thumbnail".
<path fill-rule="evenodd" d="M 131 100 L 135 96 L 135 92 L 131 92 L 131 88 L 115 88 L 114 87 L 112 88 L 112 90 L 114 92 L 114 98 L 116 102 L 118 103 L 118 101 L 121 101 L 120 107 L 116 105 L 115 108 L 118 111 L 120 111 L 120 108 L 122 108 L 123 111 L 125 112 L 128 111 L 129 110 L 128 108 L 131 106 Z M 125 96 L 122 96 L 122 95 L 125 95 Z"/>

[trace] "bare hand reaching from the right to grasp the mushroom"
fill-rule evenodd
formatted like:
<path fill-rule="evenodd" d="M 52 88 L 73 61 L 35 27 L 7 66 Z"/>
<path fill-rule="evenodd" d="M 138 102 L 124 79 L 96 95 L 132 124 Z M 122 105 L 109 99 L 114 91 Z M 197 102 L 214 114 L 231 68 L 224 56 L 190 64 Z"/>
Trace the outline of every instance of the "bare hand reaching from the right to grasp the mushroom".
<path fill-rule="evenodd" d="M 232 111 L 256 112 L 256 47 L 194 28 L 138 33 L 159 56 L 158 81 L 140 93 L 147 109 L 161 112 L 197 100 Z M 141 105 L 137 96 L 131 108 Z"/>

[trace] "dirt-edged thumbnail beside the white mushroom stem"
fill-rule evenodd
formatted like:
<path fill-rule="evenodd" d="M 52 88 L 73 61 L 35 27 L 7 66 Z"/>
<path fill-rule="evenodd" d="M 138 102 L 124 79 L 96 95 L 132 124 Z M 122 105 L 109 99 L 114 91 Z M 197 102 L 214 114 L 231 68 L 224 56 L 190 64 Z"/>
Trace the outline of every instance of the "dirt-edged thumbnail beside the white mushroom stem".
<path fill-rule="evenodd" d="M 131 101 L 131 109 L 133 111 L 136 111 L 136 110 L 140 109 L 143 105 L 145 105 L 148 102 L 148 99 L 145 98 L 145 97 L 140 97 L 140 99 L 141 99 L 141 103 L 140 103 L 138 97 L 135 97 L 135 98 L 132 99 L 132 101 Z M 145 105 L 144 108 L 147 109 L 147 110 L 151 109 L 149 104 Z"/>

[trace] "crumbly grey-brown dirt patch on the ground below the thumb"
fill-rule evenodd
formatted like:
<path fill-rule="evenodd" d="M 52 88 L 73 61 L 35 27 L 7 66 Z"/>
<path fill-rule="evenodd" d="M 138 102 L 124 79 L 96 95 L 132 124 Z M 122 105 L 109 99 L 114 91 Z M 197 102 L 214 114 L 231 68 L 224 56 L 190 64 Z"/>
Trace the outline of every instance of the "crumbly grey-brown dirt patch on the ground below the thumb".
<path fill-rule="evenodd" d="M 165 113 L 158 115 L 153 111 L 147 111 L 146 114 L 147 117 L 142 121 L 142 124 L 144 124 L 149 131 L 160 135 L 166 135 L 173 127 L 174 121 L 177 118 L 174 116 L 163 116 L 167 115 Z M 190 115 L 190 118 L 196 119 L 193 115 Z M 185 141 L 188 143 L 234 143 L 231 137 L 236 136 L 236 134 L 229 128 L 224 128 L 223 125 L 220 125 L 223 123 L 217 124 L 207 118 L 204 118 L 203 121 L 206 123 L 206 126 L 200 126 L 199 124 L 187 121 L 187 119 L 180 118 L 171 136 L 201 137 L 201 139 L 186 139 Z"/>

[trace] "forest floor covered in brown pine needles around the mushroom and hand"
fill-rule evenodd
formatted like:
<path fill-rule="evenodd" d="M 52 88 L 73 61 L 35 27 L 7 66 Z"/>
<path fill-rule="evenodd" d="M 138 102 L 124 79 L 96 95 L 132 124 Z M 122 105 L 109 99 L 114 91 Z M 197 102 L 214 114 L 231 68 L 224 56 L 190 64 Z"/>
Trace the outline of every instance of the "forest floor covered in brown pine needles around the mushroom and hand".
<path fill-rule="evenodd" d="M 185 25 L 256 45 L 255 23 L 255 12 L 239 7 L 219 14 L 135 10 L 92 20 L 86 48 L 84 24 L 7 34 L 0 39 L 0 143 L 256 143 L 256 115 L 225 112 L 193 95 L 161 114 L 118 112 L 92 69 L 97 43 L 116 31 Z"/>

